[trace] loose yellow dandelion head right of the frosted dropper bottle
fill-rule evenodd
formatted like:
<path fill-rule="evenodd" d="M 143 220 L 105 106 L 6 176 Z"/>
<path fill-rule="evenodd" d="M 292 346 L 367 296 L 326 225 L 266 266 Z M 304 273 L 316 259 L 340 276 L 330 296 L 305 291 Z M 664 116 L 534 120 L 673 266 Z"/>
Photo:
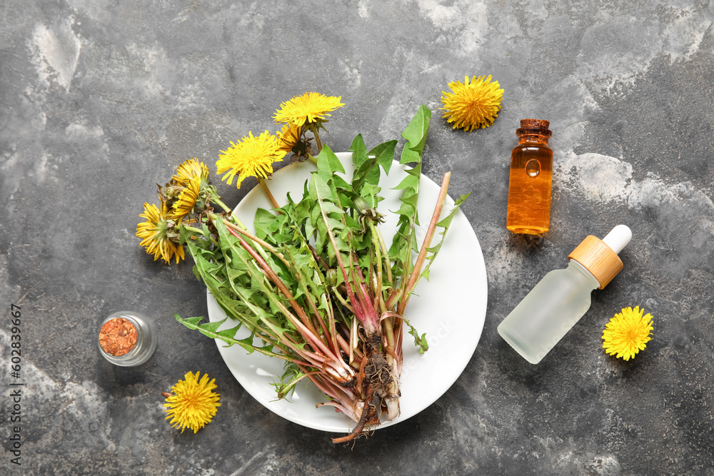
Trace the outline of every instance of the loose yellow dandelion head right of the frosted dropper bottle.
<path fill-rule="evenodd" d="M 630 360 L 640 350 L 644 350 L 650 341 L 652 316 L 640 310 L 640 306 L 624 308 L 621 313 L 615 314 L 605 325 L 603 331 L 603 348 L 610 355 L 617 358 Z"/>

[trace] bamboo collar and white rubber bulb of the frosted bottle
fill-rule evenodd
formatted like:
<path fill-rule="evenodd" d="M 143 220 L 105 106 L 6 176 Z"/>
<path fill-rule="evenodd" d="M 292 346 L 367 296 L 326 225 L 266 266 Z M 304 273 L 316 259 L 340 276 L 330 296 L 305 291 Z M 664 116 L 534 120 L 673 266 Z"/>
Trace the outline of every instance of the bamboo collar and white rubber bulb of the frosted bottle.
<path fill-rule="evenodd" d="M 598 289 L 605 288 L 622 270 L 623 262 L 618 253 L 630 243 L 631 238 L 630 228 L 625 225 L 615 226 L 602 240 L 592 235 L 585 238 L 568 255 L 568 260 L 575 260 L 583 265 L 600 283 Z"/>

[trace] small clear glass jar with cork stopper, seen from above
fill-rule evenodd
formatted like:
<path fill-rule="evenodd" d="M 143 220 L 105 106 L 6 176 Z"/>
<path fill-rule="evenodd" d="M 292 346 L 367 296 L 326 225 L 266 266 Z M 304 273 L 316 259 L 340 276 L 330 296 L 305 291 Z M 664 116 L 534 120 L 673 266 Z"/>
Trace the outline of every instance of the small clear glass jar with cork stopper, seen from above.
<path fill-rule="evenodd" d="M 156 350 L 154 322 L 131 310 L 121 310 L 99 326 L 97 344 L 106 360 L 121 367 L 134 367 L 149 360 Z"/>

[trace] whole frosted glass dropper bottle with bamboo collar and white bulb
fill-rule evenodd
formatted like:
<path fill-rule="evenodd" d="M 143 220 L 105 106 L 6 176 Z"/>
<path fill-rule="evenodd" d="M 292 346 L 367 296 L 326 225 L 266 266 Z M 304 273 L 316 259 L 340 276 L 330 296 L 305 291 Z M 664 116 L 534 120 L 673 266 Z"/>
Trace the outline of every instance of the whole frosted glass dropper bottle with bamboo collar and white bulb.
<path fill-rule="evenodd" d="M 590 309 L 590 293 L 603 289 L 623 268 L 618 253 L 632 231 L 613 228 L 602 240 L 588 236 L 568 255 L 568 267 L 546 274 L 498 325 L 511 347 L 537 364 Z"/>

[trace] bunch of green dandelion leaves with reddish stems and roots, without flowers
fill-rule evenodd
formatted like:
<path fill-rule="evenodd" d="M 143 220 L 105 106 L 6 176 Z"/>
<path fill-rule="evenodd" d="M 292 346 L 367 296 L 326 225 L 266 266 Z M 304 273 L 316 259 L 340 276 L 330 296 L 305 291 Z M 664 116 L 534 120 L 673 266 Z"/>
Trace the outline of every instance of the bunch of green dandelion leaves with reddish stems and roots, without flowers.
<path fill-rule="evenodd" d="M 192 256 L 194 273 L 228 317 L 201 323 L 201 317 L 176 315 L 178 322 L 248 353 L 283 360 L 278 397 L 303 381 L 316 385 L 326 396 L 318 406 L 334 407 L 355 422 L 334 442 L 361 435 L 381 415 L 399 415 L 405 330 L 422 352 L 428 348 L 408 322 L 408 302 L 418 281 L 428 278 L 466 200 L 462 196 L 442 213 L 446 173 L 426 237 L 418 243 L 421 161 L 430 122 L 431 111 L 421 106 L 402 134 L 406 178 L 397 187 L 401 203 L 393 212 L 398 223 L 391 243 L 383 237 L 377 206 L 380 179 L 390 171 L 398 141 L 368 149 L 361 136 L 350 148 L 350 179 L 336 154 L 322 145 L 301 198 L 288 195 L 284 206 L 258 208 L 251 229 L 220 201 L 223 212 L 208 206 L 179 226 L 178 241 Z M 247 338 L 236 338 L 241 328 Z"/>

